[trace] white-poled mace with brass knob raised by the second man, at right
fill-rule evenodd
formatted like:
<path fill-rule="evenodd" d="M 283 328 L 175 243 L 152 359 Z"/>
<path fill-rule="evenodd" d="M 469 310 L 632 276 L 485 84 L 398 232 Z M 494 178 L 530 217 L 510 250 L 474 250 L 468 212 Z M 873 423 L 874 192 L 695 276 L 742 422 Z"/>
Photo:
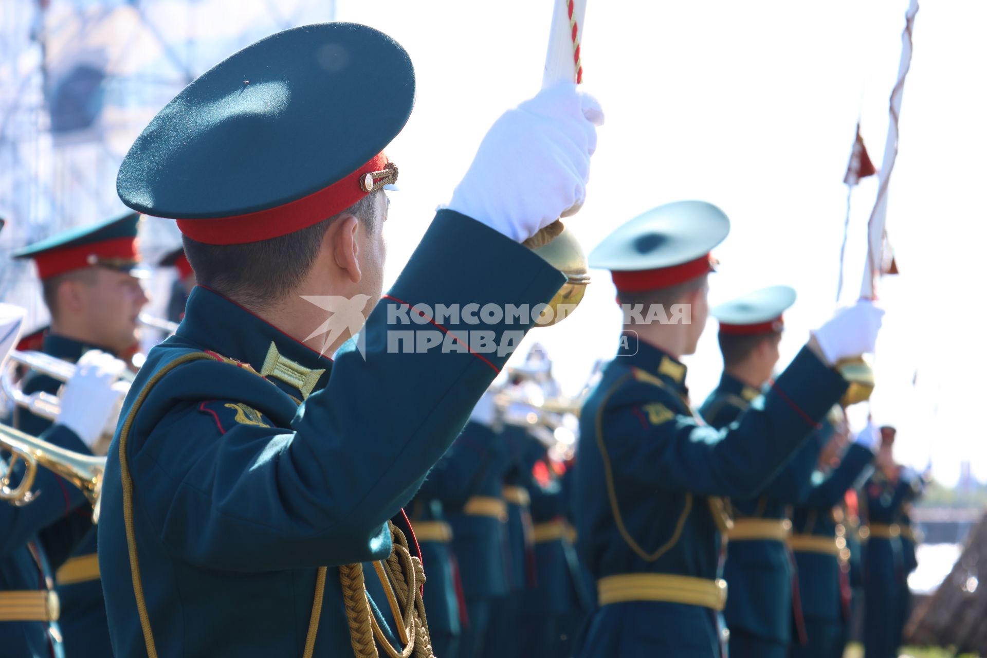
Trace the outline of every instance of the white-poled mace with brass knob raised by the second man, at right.
<path fill-rule="evenodd" d="M 884 142 L 884 157 L 880 162 L 877 198 L 874 200 L 871 218 L 868 220 L 868 253 L 864 265 L 864 280 L 861 284 L 861 299 L 875 298 L 875 280 L 883 273 L 882 252 L 887 220 L 887 186 L 890 183 L 894 160 L 898 156 L 898 117 L 901 115 L 901 98 L 905 92 L 905 77 L 912 63 L 912 30 L 915 15 L 919 11 L 918 0 L 910 0 L 905 12 L 905 29 L 901 33 L 901 61 L 898 64 L 898 77 L 891 89 L 889 101 L 890 119 L 887 124 L 887 140 Z M 845 405 L 870 400 L 874 387 L 873 366 L 864 356 L 843 359 L 836 364 L 837 370 L 850 383 L 843 396 Z"/>

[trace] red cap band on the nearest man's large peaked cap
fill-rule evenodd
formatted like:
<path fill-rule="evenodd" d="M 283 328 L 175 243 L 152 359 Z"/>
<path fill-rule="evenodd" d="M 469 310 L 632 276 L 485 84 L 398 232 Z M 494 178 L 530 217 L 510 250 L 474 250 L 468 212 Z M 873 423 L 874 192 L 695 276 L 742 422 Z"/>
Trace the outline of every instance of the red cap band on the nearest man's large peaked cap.
<path fill-rule="evenodd" d="M 329 219 L 366 196 L 369 192 L 364 191 L 360 181 L 367 174 L 383 170 L 387 163 L 387 156 L 381 152 L 346 178 L 308 196 L 246 215 L 180 219 L 179 230 L 206 245 L 243 245 L 285 236 Z"/>

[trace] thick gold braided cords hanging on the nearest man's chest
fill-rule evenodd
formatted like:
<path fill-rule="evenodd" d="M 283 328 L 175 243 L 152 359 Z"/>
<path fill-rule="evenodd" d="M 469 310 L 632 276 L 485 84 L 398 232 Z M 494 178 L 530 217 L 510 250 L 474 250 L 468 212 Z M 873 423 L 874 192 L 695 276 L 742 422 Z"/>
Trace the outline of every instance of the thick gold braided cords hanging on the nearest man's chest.
<path fill-rule="evenodd" d="M 408 643 L 397 651 L 384 635 L 377 619 L 370 612 L 362 564 L 344 564 L 340 567 L 342 598 L 349 622 L 349 642 L 356 658 L 378 658 L 380 644 L 389 658 L 435 658 L 428 634 L 428 621 L 421 600 L 421 584 L 425 581 L 421 561 L 408 548 L 405 534 L 388 524 L 391 530 L 391 554 L 378 570 L 378 577 L 388 596 L 392 610 L 397 610 L 395 621 L 402 625 L 398 635 Z M 376 568 L 376 565 L 375 565 Z M 395 601 L 390 601 L 393 596 Z"/>

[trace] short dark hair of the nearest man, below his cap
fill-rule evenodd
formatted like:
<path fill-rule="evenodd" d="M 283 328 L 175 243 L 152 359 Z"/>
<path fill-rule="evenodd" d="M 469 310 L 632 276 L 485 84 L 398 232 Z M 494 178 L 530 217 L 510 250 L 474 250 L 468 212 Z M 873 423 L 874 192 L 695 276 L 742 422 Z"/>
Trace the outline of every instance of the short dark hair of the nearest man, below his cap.
<path fill-rule="evenodd" d="M 376 231 L 374 208 L 380 191 L 367 194 L 341 213 L 287 235 L 243 245 L 207 245 L 182 236 L 199 284 L 253 308 L 296 289 L 308 275 L 323 238 L 342 216 L 356 217 L 368 235 Z"/>

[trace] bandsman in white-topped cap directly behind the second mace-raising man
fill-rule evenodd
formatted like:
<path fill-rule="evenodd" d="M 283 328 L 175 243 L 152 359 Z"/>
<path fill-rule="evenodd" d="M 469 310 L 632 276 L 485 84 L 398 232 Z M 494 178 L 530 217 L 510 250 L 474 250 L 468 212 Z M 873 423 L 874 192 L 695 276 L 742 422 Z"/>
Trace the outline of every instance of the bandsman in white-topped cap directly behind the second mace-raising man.
<path fill-rule="evenodd" d="M 712 310 L 720 321 L 723 374 L 699 409 L 711 426 L 726 427 L 751 404 L 763 402 L 761 390 L 780 356 L 783 314 L 795 301 L 794 289 L 772 286 Z M 794 616 L 800 629 L 800 611 L 793 607 L 795 573 L 786 541 L 792 526 L 791 505 L 807 493 L 820 447 L 813 436 L 756 498 L 730 499 L 733 527 L 727 533 L 723 578 L 731 592 L 723 616 L 733 658 L 786 658 Z"/>

